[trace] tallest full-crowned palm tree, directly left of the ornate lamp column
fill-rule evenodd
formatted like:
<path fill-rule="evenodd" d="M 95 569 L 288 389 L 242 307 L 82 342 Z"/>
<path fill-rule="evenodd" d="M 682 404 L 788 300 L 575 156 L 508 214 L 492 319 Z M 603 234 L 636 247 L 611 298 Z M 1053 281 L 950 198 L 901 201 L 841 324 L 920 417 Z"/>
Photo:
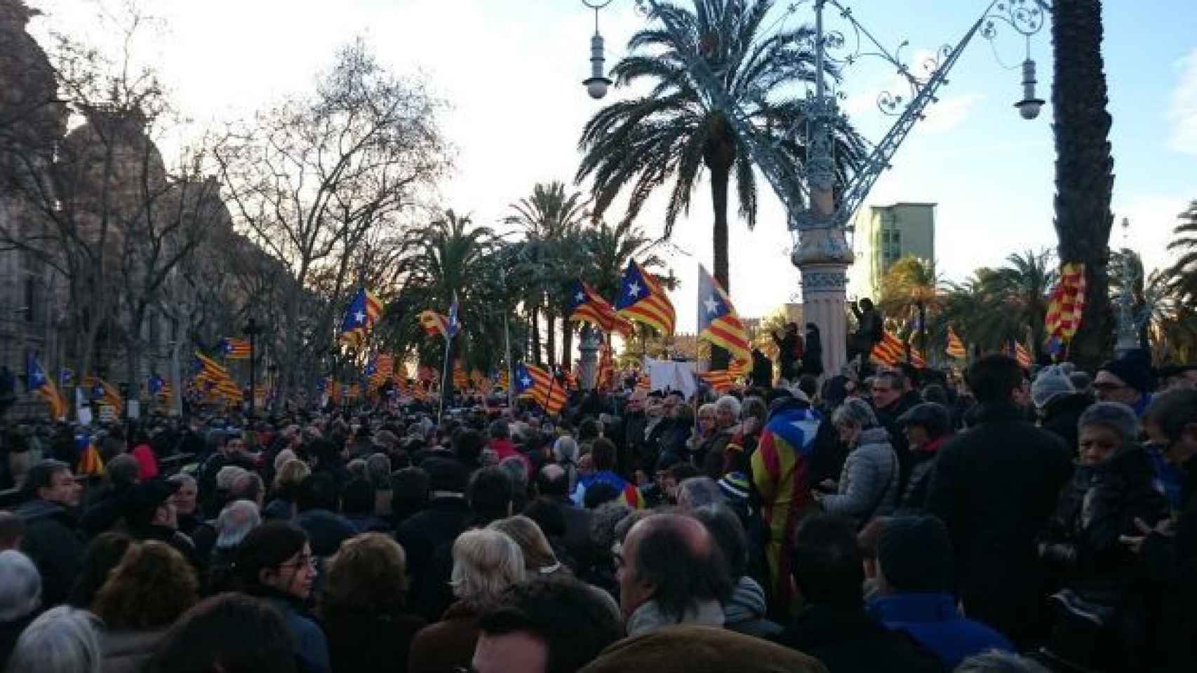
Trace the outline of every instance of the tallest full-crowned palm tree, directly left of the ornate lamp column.
<path fill-rule="evenodd" d="M 584 152 L 577 182 L 593 178 L 595 216 L 630 189 L 625 218 L 632 220 L 645 201 L 670 179 L 664 235 L 680 214 L 688 214 L 691 196 L 710 171 L 715 222 L 715 277 L 728 283 L 728 191 L 733 176 L 740 216 L 757 224 L 758 188 L 753 160 L 724 110 L 691 73 L 688 56 L 700 54 L 731 100 L 745 111 L 758 142 L 777 148 L 788 178 L 798 179 L 806 161 L 804 134 L 790 133 L 803 122 L 803 99 L 795 84 L 815 77 L 813 30 L 808 26 L 767 33 L 764 24 L 773 0 L 693 0 L 694 11 L 669 2 L 656 4 L 650 19 L 668 16 L 683 26 L 675 36 L 650 26 L 628 41 L 628 56 L 612 71 L 616 86 L 652 82 L 643 97 L 607 105 L 587 122 L 579 147 Z M 827 73 L 838 77 L 828 65 Z M 846 122 L 837 133 L 837 173 L 843 182 L 863 154 L 863 141 Z M 722 349 L 715 355 L 725 365 Z"/>

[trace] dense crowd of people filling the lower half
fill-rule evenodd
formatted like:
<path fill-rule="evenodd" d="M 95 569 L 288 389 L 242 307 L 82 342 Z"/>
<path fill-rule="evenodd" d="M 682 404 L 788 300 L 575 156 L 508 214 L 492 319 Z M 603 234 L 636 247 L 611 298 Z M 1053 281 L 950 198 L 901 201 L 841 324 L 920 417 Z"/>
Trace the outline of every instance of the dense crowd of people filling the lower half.
<path fill-rule="evenodd" d="M 151 418 L 102 477 L 12 428 L 0 671 L 1197 671 L 1197 367 L 790 353 L 553 417 Z"/>

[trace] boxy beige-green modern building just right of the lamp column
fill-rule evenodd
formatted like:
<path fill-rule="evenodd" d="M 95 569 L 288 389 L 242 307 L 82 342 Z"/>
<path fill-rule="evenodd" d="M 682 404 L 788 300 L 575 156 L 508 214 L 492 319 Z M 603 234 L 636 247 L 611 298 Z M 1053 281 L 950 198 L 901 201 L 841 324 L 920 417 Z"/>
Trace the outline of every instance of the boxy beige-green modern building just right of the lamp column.
<path fill-rule="evenodd" d="M 881 277 L 903 257 L 935 261 L 935 203 L 868 206 L 856 214 L 847 299 L 876 299 Z"/>

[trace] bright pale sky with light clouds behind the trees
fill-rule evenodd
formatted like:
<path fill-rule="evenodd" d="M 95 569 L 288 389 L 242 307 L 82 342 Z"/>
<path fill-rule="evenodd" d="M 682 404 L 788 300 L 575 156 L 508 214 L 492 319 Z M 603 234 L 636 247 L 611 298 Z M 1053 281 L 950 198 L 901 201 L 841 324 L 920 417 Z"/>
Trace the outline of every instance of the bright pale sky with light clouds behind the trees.
<path fill-rule="evenodd" d="M 955 43 L 988 0 L 844 0 L 913 68 L 944 43 Z M 56 29 L 110 39 L 95 18 L 95 0 L 31 0 L 45 12 L 35 36 Z M 782 25 L 812 19 L 809 0 Z M 1197 4 L 1191 0 L 1105 2 L 1104 56 L 1113 116 L 1113 212 L 1131 222 L 1126 244 L 1149 269 L 1165 264 L 1177 215 L 1197 200 Z M 449 103 L 443 117 L 455 147 L 455 171 L 439 201 L 479 224 L 496 225 L 509 204 L 537 182 L 572 183 L 582 126 L 602 105 L 636 92 L 613 90 L 591 100 L 589 38 L 595 14 L 581 0 L 142 0 L 156 31 L 135 45 L 158 68 L 178 106 L 196 127 L 245 117 L 311 86 L 335 49 L 364 37 L 396 73 L 426 78 Z M 833 14 L 828 29 L 845 27 Z M 633 0 L 613 0 L 598 16 L 607 67 L 626 54 L 627 38 L 645 25 Z M 999 25 L 999 29 L 1002 26 Z M 1052 109 L 1023 121 L 1017 67 L 1027 49 L 1011 30 L 991 45 L 967 48 L 928 118 L 915 127 L 875 185 L 868 204 L 935 202 L 936 265 L 950 280 L 998 265 L 1013 252 L 1055 245 Z M 1050 25 L 1032 38 L 1039 97 L 1051 98 Z M 892 68 L 861 61 L 845 73 L 843 108 L 873 141 L 889 120 L 873 104 L 894 84 Z M 760 181 L 761 212 L 749 231 L 733 212 L 731 298 L 741 316 L 767 314 L 800 299 L 789 262 L 784 212 Z M 578 189 L 585 189 L 581 185 Z M 638 224 L 658 235 L 663 200 Z M 687 216 L 662 251 L 681 280 L 674 293 L 679 331 L 694 328 L 697 265 L 711 264 L 709 185 L 697 189 Z M 1116 227 L 1111 245 L 1123 245 Z"/>

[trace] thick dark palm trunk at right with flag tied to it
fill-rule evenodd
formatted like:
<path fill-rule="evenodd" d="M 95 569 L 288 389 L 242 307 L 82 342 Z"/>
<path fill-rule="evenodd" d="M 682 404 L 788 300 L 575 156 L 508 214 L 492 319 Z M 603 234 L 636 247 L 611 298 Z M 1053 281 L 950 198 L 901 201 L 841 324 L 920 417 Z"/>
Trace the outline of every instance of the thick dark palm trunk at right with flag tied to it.
<path fill-rule="evenodd" d="M 1086 305 L 1070 359 L 1094 371 L 1113 347 L 1110 228 L 1113 158 L 1101 59 L 1100 0 L 1056 0 L 1052 20 L 1056 115 L 1056 234 L 1061 264 L 1084 264 Z"/>

